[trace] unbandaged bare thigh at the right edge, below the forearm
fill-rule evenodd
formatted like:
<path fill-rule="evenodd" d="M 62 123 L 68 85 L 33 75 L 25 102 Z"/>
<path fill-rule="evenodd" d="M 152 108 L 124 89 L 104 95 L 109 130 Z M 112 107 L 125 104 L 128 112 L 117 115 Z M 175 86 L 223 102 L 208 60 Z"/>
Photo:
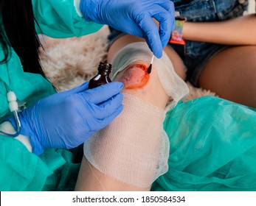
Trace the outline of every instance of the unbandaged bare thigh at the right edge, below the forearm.
<path fill-rule="evenodd" d="M 199 77 L 202 88 L 223 99 L 256 107 L 256 46 L 234 46 L 212 57 Z"/>

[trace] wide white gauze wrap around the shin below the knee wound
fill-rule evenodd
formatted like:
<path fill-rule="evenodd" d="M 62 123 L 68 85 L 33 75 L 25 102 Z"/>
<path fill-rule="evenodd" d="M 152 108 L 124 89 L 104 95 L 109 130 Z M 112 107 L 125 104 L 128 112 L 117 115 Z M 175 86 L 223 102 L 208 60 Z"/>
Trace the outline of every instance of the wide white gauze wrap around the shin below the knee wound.
<path fill-rule="evenodd" d="M 148 188 L 168 168 L 165 111 L 126 93 L 123 105 L 120 116 L 84 143 L 84 154 L 104 174 Z"/>

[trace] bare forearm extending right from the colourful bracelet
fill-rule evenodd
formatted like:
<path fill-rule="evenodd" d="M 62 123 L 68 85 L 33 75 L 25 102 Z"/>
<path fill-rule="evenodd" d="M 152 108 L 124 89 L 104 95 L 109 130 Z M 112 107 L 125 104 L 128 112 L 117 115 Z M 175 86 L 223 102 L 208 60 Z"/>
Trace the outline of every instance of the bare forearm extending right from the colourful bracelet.
<path fill-rule="evenodd" d="M 185 22 L 183 38 L 226 45 L 256 45 L 256 16 L 245 15 L 221 22 Z"/>

